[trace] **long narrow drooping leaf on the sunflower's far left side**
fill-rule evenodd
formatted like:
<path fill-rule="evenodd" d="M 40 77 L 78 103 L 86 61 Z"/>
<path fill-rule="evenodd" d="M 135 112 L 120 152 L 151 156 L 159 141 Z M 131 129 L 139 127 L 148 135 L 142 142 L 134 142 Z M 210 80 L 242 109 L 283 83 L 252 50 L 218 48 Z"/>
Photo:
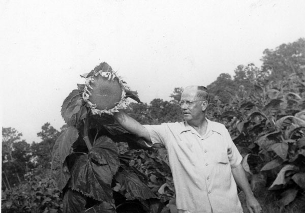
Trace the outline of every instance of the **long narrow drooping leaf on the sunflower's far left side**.
<path fill-rule="evenodd" d="M 66 157 L 72 153 L 72 145 L 78 138 L 78 132 L 75 127 L 68 127 L 57 138 L 52 151 L 52 172 L 57 181 L 57 186 L 62 191 L 69 178 Z"/>

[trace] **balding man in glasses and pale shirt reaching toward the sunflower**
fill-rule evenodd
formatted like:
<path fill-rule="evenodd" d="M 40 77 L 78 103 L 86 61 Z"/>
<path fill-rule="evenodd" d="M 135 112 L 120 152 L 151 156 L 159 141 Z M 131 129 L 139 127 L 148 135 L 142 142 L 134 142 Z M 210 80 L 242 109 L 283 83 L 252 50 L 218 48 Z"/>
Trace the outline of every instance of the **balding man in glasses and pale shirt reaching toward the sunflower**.
<path fill-rule="evenodd" d="M 178 212 L 242 212 L 236 183 L 246 195 L 249 211 L 260 212 L 228 130 L 205 117 L 207 89 L 188 86 L 179 103 L 185 119 L 181 123 L 142 126 L 125 113 L 115 114 L 119 124 L 142 137 L 147 146 L 161 143 L 167 148 Z"/>

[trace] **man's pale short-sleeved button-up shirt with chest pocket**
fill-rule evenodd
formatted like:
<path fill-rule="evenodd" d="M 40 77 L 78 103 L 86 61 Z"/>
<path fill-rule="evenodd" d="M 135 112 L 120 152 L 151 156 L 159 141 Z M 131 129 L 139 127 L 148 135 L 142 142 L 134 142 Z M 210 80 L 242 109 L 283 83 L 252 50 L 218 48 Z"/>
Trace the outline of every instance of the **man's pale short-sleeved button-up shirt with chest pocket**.
<path fill-rule="evenodd" d="M 224 125 L 207 120 L 204 136 L 186 121 L 144 125 L 163 144 L 173 175 L 177 209 L 192 213 L 242 212 L 231 168 L 242 157 Z"/>

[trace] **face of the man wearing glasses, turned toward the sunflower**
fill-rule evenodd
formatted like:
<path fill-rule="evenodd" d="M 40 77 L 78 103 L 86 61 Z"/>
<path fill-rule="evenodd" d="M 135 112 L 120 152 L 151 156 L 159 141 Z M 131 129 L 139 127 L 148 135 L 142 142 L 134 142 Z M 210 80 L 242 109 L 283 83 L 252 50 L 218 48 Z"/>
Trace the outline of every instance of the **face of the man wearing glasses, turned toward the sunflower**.
<path fill-rule="evenodd" d="M 186 89 L 181 95 L 181 101 L 184 102 L 184 104 L 181 105 L 181 110 L 184 119 L 188 121 L 188 123 L 200 118 L 203 115 L 202 103 L 204 101 L 198 100 L 196 94 L 196 89 Z M 190 102 L 192 103 L 187 104 Z"/>

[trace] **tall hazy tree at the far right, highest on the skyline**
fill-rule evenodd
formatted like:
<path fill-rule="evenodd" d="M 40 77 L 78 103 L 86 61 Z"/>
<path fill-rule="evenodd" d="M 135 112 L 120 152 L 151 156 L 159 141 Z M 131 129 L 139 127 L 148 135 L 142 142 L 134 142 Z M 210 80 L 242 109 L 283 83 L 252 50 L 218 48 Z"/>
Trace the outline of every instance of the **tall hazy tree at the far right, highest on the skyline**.
<path fill-rule="evenodd" d="M 305 39 L 282 44 L 275 50 L 265 49 L 263 54 L 262 69 L 270 71 L 271 80 L 283 79 L 292 73 L 298 74 L 305 66 Z"/>

